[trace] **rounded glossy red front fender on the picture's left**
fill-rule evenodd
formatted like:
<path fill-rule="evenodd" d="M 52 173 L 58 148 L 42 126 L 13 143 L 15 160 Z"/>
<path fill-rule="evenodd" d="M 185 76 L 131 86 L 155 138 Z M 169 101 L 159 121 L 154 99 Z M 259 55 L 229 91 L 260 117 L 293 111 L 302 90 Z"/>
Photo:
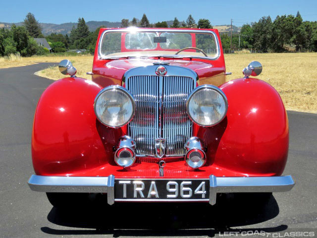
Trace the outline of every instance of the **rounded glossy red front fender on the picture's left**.
<path fill-rule="evenodd" d="M 32 160 L 37 175 L 89 170 L 109 163 L 116 134 L 94 113 L 102 87 L 82 78 L 63 78 L 42 94 L 33 122 Z"/>

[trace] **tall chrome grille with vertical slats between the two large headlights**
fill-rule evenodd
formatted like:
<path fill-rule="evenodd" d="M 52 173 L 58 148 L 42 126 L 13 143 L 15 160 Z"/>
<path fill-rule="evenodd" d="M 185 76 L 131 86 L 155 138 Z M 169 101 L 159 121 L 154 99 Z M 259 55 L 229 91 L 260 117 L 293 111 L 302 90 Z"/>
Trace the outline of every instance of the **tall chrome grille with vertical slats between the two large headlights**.
<path fill-rule="evenodd" d="M 196 81 L 185 76 L 131 76 L 126 88 L 136 100 L 128 134 L 136 141 L 136 154 L 156 156 L 155 139 L 166 139 L 166 156 L 185 155 L 184 143 L 192 135 L 186 98 Z"/>

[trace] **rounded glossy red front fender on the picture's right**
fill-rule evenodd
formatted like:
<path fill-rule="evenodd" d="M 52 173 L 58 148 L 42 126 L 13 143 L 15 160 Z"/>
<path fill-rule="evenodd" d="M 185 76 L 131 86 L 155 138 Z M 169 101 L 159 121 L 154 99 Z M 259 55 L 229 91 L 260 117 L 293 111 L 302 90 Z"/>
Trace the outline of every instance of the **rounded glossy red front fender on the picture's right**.
<path fill-rule="evenodd" d="M 268 83 L 240 78 L 219 86 L 228 99 L 227 116 L 198 130 L 209 163 L 237 173 L 282 174 L 288 155 L 288 119 L 278 92 Z"/>

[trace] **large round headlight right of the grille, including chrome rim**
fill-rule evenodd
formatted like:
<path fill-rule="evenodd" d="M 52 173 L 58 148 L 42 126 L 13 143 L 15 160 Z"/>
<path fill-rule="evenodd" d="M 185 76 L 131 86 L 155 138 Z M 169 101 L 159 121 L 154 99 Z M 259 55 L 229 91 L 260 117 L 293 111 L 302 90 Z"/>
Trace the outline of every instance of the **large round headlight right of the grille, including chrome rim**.
<path fill-rule="evenodd" d="M 186 108 L 188 116 L 195 123 L 211 126 L 219 123 L 226 116 L 228 102 L 219 88 L 202 85 L 188 95 Z"/>

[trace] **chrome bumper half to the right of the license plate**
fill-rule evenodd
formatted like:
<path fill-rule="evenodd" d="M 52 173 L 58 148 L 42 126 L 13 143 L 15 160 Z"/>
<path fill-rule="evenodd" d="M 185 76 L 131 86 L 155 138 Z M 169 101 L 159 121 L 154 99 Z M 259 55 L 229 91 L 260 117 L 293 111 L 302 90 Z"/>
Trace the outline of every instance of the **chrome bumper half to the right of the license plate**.
<path fill-rule="evenodd" d="M 287 192 L 295 185 L 292 176 L 272 177 L 215 177 L 210 176 L 210 199 L 214 205 L 216 194 L 222 192 Z"/>

